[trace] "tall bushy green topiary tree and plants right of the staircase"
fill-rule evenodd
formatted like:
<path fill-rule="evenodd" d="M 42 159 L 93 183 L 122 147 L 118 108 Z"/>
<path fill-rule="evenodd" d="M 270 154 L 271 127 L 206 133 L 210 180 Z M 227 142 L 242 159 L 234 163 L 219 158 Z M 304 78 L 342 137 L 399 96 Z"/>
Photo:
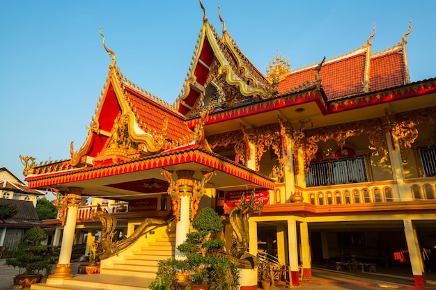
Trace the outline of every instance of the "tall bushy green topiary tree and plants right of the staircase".
<path fill-rule="evenodd" d="M 151 290 L 238 289 L 239 271 L 224 253 L 224 241 L 214 237 L 214 234 L 218 234 L 222 229 L 221 220 L 213 209 L 204 208 L 198 211 L 185 243 L 178 245 L 178 250 L 186 255 L 186 259 L 159 261 L 157 277 L 148 288 Z M 187 272 L 189 280 L 185 281 L 186 276 L 181 274 Z"/>

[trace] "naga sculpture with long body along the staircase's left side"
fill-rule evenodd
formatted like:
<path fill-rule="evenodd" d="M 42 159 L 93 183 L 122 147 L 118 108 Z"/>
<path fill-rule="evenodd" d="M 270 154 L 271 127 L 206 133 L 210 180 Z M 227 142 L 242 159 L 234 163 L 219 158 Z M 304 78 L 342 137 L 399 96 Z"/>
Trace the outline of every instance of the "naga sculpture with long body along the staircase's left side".
<path fill-rule="evenodd" d="M 148 229 L 148 227 L 168 225 L 170 221 L 159 220 L 157 218 L 146 218 L 129 237 L 120 241 L 113 241 L 114 235 L 116 233 L 116 218 L 114 216 L 111 216 L 111 214 L 109 214 L 107 211 L 102 211 L 101 209 L 97 210 L 96 212 L 93 212 L 91 210 L 91 218 L 93 220 L 95 218 L 98 218 L 102 223 L 102 236 L 100 245 L 104 249 L 104 252 L 99 256 L 102 260 L 112 257 L 118 252 L 130 247 L 130 245 L 137 241 L 137 239 L 144 232 L 146 232 L 146 229 Z"/>

